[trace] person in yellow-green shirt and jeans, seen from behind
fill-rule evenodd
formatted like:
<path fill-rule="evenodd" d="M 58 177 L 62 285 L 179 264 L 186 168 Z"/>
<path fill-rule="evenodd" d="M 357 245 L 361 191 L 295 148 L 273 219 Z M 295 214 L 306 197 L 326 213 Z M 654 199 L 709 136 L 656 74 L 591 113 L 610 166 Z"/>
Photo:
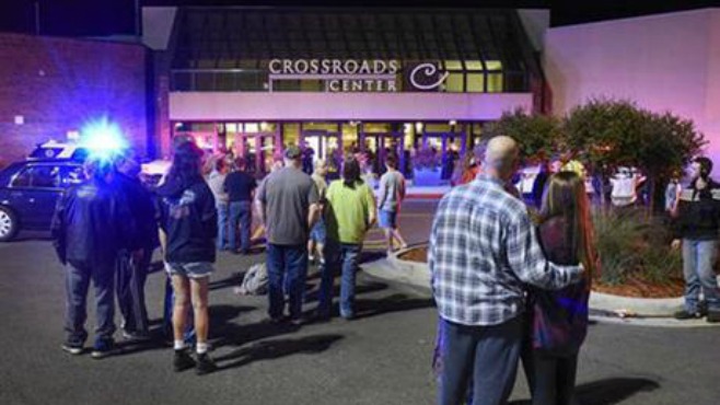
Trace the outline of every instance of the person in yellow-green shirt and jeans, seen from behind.
<path fill-rule="evenodd" d="M 318 319 L 330 316 L 333 282 L 341 269 L 340 316 L 355 317 L 355 275 L 358 270 L 362 241 L 375 222 L 375 198 L 370 186 L 360 180 L 360 163 L 349 155 L 342 165 L 342 180 L 335 181 L 326 192 L 325 268 L 323 268 Z"/>

